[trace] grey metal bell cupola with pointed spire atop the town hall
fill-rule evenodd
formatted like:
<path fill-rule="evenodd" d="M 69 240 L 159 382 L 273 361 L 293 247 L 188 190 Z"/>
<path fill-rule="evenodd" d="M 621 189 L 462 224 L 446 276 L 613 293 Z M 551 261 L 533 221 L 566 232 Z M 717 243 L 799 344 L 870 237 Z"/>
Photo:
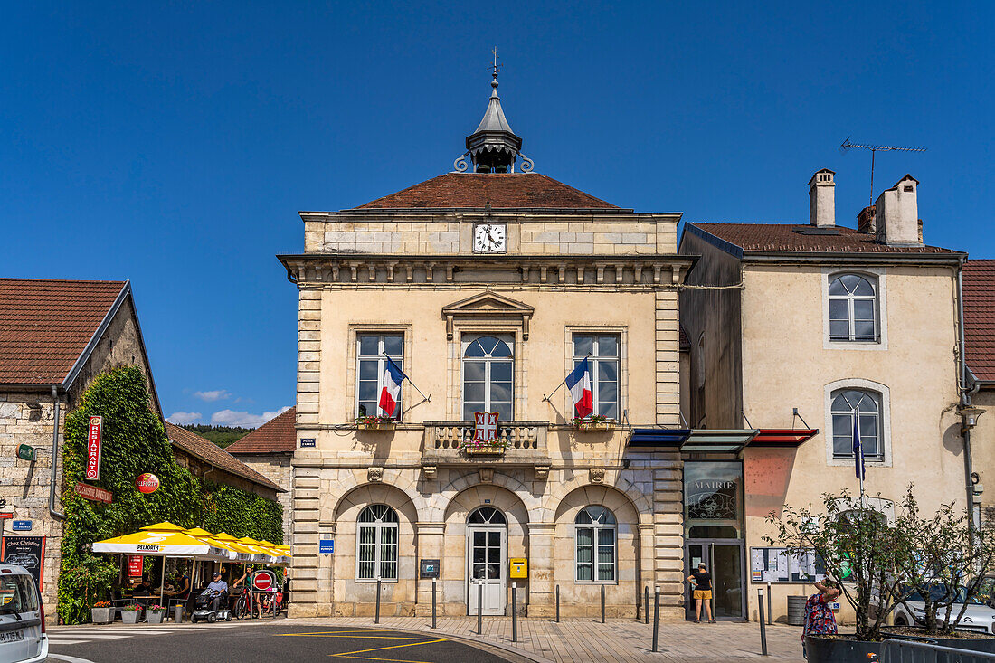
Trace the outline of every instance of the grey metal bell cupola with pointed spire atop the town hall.
<path fill-rule="evenodd" d="M 529 172 L 533 167 L 532 160 L 521 153 L 521 138 L 511 130 L 504 117 L 504 110 L 500 108 L 500 97 L 497 96 L 497 74 L 500 69 L 497 64 L 497 48 L 494 56 L 488 110 L 484 112 L 477 130 L 467 136 L 467 151 L 453 164 L 457 172 L 466 172 L 468 169 L 467 156 L 473 163 L 474 172 L 514 172 L 514 162 L 518 157 L 521 157 L 522 172 Z"/>

